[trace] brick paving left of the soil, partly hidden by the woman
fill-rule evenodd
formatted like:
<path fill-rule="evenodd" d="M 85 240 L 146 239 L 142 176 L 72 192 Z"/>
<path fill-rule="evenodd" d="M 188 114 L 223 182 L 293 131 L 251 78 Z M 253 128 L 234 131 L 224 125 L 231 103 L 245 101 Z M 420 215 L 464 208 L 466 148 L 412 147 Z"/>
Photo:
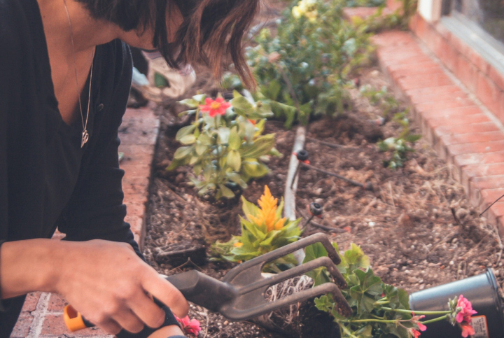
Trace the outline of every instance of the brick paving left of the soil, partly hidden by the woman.
<path fill-rule="evenodd" d="M 145 236 L 146 202 L 148 197 L 151 162 L 158 137 L 159 120 L 151 108 L 127 109 L 120 127 L 121 146 L 124 153 L 120 167 L 125 170 L 123 190 L 127 205 L 126 221 L 132 225 L 135 239 L 143 246 Z M 55 239 L 61 234 L 55 234 Z M 62 318 L 66 302 L 59 295 L 30 293 L 11 338 L 49 337 L 112 337 L 97 328 L 72 334 Z"/>

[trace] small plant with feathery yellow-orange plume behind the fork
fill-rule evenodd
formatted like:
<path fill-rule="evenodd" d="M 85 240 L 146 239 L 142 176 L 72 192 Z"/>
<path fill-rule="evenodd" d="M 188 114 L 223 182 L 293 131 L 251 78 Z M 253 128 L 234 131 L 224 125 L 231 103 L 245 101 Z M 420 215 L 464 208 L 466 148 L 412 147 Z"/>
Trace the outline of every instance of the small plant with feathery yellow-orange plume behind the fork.
<path fill-rule="evenodd" d="M 272 197 L 267 185 L 258 200 L 260 207 L 248 202 L 243 196 L 241 202 L 245 215 L 245 218 L 240 216 L 241 235 L 233 236 L 228 242 L 214 244 L 214 255 L 230 262 L 244 262 L 300 238 L 298 223 L 301 218 L 294 221 L 282 218 L 283 199 L 277 206 L 278 199 Z M 279 272 L 294 265 L 297 265 L 297 261 L 292 255 L 288 255 L 270 263 L 263 271 Z"/>

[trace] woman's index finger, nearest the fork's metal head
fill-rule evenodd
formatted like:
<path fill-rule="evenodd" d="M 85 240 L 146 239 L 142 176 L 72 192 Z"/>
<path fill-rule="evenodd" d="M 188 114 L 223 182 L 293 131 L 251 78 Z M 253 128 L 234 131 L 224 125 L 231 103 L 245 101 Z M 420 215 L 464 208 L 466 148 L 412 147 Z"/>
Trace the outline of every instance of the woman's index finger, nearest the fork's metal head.
<path fill-rule="evenodd" d="M 142 280 L 142 285 L 148 293 L 169 307 L 176 316 L 179 318 L 187 316 L 189 304 L 186 298 L 172 283 L 162 278 L 158 273 L 146 275 Z"/>

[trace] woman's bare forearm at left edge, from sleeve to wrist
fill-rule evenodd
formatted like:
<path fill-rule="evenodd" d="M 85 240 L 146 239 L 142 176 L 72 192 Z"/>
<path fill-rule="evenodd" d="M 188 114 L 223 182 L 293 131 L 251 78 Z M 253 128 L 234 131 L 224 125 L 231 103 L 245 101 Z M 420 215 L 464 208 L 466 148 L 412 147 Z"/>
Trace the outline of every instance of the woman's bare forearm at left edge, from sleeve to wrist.
<path fill-rule="evenodd" d="M 58 258 L 66 243 L 52 239 L 10 241 L 0 247 L 1 298 L 33 291 L 54 292 Z"/>

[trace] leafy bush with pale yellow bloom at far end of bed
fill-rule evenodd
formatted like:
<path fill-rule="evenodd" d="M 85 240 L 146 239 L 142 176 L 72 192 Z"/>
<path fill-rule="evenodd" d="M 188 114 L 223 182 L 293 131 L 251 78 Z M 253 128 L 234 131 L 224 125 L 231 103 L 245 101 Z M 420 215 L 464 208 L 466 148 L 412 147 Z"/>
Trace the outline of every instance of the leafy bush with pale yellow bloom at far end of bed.
<path fill-rule="evenodd" d="M 344 111 L 346 76 L 372 51 L 368 35 L 342 19 L 339 1 L 299 1 L 283 14 L 276 36 L 262 29 L 255 42 L 246 52 L 258 81 L 255 98 L 287 128 L 311 114 Z"/>

